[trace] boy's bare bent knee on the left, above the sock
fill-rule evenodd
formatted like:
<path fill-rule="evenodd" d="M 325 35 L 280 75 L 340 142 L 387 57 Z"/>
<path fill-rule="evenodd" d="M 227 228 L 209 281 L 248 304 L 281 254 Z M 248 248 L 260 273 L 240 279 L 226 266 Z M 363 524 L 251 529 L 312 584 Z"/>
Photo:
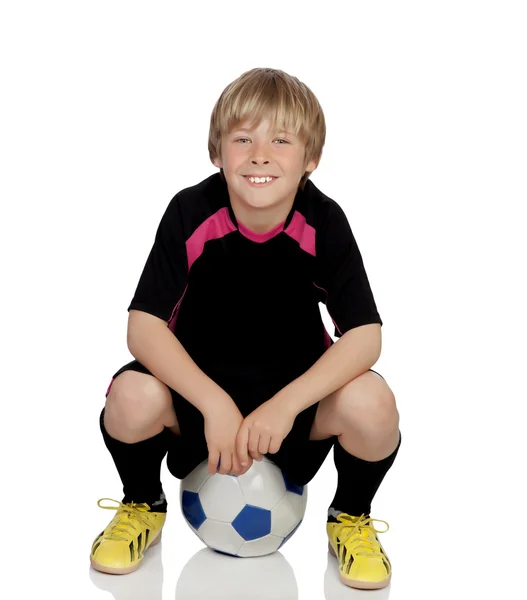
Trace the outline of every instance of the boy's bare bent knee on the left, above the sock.
<path fill-rule="evenodd" d="M 130 429 L 161 419 L 172 406 L 167 386 L 152 375 L 125 371 L 112 383 L 105 413 Z"/>

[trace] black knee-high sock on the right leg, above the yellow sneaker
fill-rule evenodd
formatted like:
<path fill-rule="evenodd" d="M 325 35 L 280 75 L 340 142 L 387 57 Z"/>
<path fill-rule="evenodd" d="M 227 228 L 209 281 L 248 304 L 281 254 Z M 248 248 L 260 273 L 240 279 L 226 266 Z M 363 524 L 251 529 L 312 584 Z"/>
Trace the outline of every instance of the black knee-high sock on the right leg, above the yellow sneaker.
<path fill-rule="evenodd" d="M 390 456 L 375 462 L 352 456 L 337 440 L 334 461 L 337 467 L 338 484 L 337 492 L 328 510 L 328 521 L 337 521 L 335 517 L 339 512 L 356 517 L 362 514 L 370 516 L 372 500 L 397 456 L 401 439 L 401 432 L 399 432 L 397 448 Z"/>

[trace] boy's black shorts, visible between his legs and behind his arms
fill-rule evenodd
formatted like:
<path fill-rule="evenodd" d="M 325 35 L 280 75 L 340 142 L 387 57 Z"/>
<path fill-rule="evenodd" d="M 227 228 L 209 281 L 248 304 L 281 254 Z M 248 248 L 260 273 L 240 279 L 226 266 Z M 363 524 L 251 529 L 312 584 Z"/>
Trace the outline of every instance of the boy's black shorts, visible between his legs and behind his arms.
<path fill-rule="evenodd" d="M 106 390 L 106 396 L 110 392 L 113 381 L 124 371 L 137 371 L 152 375 L 143 364 L 133 360 L 113 375 Z M 373 371 L 373 369 L 370 369 L 370 371 Z M 376 373 L 376 371 L 373 372 Z M 379 375 L 379 373 L 377 374 Z M 248 386 L 247 383 L 241 385 L 239 381 L 218 381 L 217 383 L 234 400 L 244 417 L 257 406 L 272 398 L 285 385 L 283 382 L 278 381 L 264 384 L 260 381 L 257 385 L 251 386 Z M 203 415 L 193 404 L 172 388 L 169 387 L 168 389 L 172 394 L 172 402 L 181 435 L 171 435 L 169 437 L 167 467 L 174 477 L 183 479 L 208 458 L 204 431 L 205 423 Z M 297 485 L 306 485 L 313 479 L 326 460 L 333 444 L 337 441 L 337 436 L 316 441 L 309 439 L 318 405 L 319 402 L 316 402 L 299 413 L 278 452 L 266 455 Z"/>

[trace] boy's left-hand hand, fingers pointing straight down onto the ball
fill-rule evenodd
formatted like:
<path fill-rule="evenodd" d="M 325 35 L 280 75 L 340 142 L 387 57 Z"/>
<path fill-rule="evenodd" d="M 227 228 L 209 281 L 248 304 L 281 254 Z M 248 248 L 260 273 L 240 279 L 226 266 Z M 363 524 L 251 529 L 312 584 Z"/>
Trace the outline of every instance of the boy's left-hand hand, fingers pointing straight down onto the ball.
<path fill-rule="evenodd" d="M 245 466 L 240 464 L 236 456 L 236 435 L 243 422 L 243 415 L 232 398 L 227 401 L 217 401 L 207 413 L 205 420 L 205 439 L 209 450 L 208 471 L 211 475 L 216 472 L 222 474 L 243 475 L 252 466 L 252 458 L 244 460 Z M 247 451 L 247 448 L 245 448 Z M 247 454 L 247 452 L 245 452 Z"/>

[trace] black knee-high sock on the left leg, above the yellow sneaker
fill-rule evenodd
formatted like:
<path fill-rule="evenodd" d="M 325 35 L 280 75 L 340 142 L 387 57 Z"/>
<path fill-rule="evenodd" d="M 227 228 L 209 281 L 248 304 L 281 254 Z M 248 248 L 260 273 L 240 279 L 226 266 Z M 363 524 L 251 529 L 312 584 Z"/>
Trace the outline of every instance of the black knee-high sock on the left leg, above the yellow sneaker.
<path fill-rule="evenodd" d="M 104 427 L 104 408 L 99 419 L 102 436 L 123 483 L 125 502 L 145 502 L 153 512 L 167 512 L 161 485 L 161 463 L 167 453 L 166 429 L 152 438 L 127 444 L 111 437 Z"/>

